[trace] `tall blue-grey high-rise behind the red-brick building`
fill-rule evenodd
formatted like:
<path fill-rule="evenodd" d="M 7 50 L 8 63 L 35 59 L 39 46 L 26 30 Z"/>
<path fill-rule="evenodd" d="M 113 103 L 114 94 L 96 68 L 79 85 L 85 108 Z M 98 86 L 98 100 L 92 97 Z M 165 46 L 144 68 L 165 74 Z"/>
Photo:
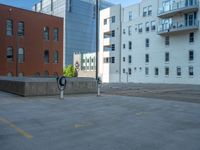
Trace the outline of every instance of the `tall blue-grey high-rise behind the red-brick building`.
<path fill-rule="evenodd" d="M 36 12 L 64 18 L 63 64 L 73 64 L 74 52 L 96 51 L 95 0 L 41 0 L 33 6 Z M 100 9 L 112 6 L 101 0 Z"/>

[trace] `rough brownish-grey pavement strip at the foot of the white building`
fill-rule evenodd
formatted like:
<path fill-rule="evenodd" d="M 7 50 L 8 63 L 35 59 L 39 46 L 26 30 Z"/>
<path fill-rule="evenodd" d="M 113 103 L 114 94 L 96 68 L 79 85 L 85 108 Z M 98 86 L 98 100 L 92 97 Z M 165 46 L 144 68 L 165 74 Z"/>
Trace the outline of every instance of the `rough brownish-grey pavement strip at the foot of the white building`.
<path fill-rule="evenodd" d="M 200 103 L 199 85 L 113 83 L 103 84 L 102 92 L 109 95 Z"/>

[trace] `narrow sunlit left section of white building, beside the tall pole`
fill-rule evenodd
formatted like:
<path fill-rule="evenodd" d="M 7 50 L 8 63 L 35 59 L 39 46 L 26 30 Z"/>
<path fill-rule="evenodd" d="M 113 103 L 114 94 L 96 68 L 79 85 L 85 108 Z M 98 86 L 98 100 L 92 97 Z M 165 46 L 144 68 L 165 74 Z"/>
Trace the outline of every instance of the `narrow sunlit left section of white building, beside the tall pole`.
<path fill-rule="evenodd" d="M 121 6 L 100 12 L 99 76 L 103 82 L 120 81 Z"/>

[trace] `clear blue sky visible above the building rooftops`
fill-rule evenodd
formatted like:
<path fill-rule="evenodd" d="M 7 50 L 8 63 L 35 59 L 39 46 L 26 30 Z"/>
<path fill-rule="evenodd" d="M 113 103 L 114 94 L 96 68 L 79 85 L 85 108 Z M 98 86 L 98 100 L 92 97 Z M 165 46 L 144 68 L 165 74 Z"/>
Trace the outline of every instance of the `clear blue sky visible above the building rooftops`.
<path fill-rule="evenodd" d="M 40 0 L 0 0 L 0 4 L 6 4 L 6 5 L 16 6 L 20 8 L 25 8 L 25 9 L 31 9 L 32 6 L 39 1 Z M 107 1 L 115 3 L 115 4 L 122 4 L 123 6 L 127 6 L 130 4 L 139 2 L 140 0 L 107 0 Z"/>

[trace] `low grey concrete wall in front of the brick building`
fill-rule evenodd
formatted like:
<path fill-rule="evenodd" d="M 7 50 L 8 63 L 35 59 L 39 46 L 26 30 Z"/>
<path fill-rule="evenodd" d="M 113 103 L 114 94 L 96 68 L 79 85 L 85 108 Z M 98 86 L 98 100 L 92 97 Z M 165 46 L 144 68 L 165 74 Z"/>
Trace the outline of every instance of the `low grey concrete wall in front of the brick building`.
<path fill-rule="evenodd" d="M 93 78 L 66 78 L 65 94 L 96 93 L 96 80 Z M 10 78 L 0 77 L 0 90 L 20 96 L 51 96 L 60 91 L 55 78 Z"/>

